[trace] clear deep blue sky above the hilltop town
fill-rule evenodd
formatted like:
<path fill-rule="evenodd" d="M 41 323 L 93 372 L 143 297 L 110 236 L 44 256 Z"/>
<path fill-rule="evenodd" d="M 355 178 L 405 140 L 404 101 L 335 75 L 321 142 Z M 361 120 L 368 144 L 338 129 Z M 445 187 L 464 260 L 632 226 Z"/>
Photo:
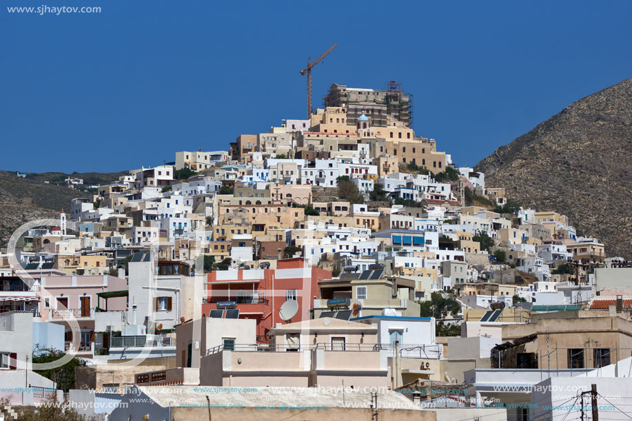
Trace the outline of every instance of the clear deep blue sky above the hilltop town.
<path fill-rule="evenodd" d="M 414 128 L 474 165 L 632 77 L 631 1 L 45 1 L 0 10 L 0 169 L 121 171 L 304 118 L 331 83 L 414 95 Z M 5 6 L 101 6 L 10 14 Z"/>

